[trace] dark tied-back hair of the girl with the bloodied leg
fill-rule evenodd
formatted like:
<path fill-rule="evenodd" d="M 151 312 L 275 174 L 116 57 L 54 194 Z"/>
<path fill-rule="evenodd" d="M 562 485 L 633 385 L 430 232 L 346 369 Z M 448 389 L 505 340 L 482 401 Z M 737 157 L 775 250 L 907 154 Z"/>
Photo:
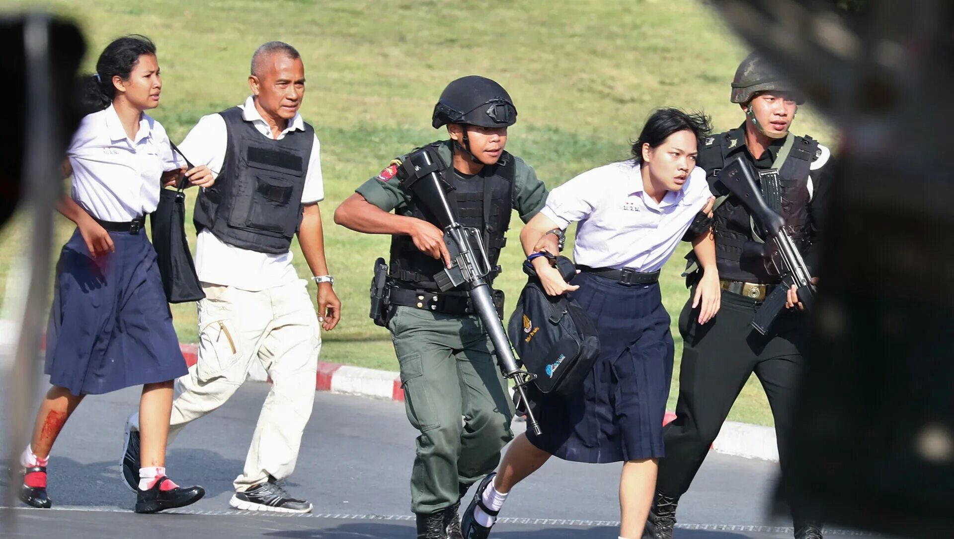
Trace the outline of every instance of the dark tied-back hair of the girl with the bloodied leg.
<path fill-rule="evenodd" d="M 134 33 L 114 39 L 96 60 L 96 72 L 80 80 L 80 107 L 84 114 L 106 109 L 113 103 L 113 77 L 129 80 L 129 75 L 143 54 L 156 54 L 156 44 L 144 35 Z"/>

